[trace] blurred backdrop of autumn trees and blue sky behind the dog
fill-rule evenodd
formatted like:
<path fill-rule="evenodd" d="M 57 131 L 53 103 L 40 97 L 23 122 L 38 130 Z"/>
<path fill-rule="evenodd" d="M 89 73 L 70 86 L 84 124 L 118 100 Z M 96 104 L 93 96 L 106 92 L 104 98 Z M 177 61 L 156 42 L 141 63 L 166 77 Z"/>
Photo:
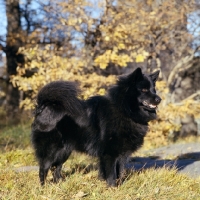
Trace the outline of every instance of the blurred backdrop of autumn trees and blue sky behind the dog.
<path fill-rule="evenodd" d="M 161 70 L 163 102 L 152 134 L 163 141 L 200 134 L 199 1 L 5 0 L 3 5 L 7 119 L 32 109 L 38 90 L 52 80 L 80 82 L 81 98 L 88 98 L 105 94 L 114 75 L 139 66 L 145 73 Z"/>

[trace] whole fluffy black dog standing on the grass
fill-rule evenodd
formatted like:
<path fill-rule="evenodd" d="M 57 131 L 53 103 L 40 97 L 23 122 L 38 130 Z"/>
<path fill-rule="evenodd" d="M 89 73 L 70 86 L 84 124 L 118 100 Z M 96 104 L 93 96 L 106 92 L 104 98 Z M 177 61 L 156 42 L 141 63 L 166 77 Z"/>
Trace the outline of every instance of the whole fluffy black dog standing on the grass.
<path fill-rule="evenodd" d="M 115 186 L 127 157 L 142 144 L 148 122 L 156 118 L 161 98 L 155 82 L 159 71 L 147 76 L 140 68 L 118 80 L 107 96 L 77 98 L 74 83 L 56 81 L 37 97 L 32 143 L 43 185 L 51 169 L 53 181 L 73 150 L 99 158 L 99 175 Z"/>

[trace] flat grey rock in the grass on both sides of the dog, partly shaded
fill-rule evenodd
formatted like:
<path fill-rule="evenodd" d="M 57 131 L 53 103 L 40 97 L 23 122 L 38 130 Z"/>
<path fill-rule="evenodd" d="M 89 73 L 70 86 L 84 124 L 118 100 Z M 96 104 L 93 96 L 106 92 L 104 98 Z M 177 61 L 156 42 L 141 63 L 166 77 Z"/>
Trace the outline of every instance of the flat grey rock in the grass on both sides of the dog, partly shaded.
<path fill-rule="evenodd" d="M 127 168 L 136 171 L 148 168 L 167 166 L 176 167 L 178 172 L 191 177 L 200 176 L 200 143 L 171 144 L 153 150 L 139 151 L 136 157 L 130 158 Z M 141 156 L 142 155 L 142 156 Z M 38 170 L 37 166 L 23 166 L 16 171 Z"/>

